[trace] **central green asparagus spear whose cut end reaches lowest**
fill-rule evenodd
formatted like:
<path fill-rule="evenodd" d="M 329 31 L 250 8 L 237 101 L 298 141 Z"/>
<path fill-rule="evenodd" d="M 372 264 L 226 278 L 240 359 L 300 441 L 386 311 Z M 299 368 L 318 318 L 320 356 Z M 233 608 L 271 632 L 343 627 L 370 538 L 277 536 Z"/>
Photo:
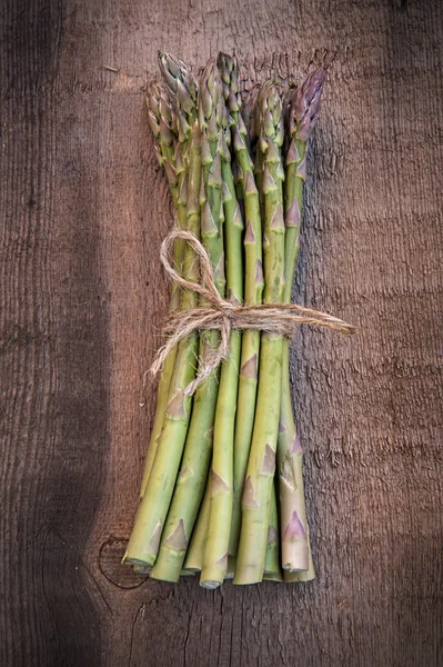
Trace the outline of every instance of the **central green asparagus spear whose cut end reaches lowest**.
<path fill-rule="evenodd" d="M 230 103 L 230 100 L 228 99 Z M 231 170 L 230 122 L 224 104 L 218 117 L 220 128 L 220 156 L 223 179 L 223 209 L 225 238 L 226 288 L 231 301 L 243 300 L 243 219 L 235 195 Z M 232 108 L 230 107 L 230 111 Z M 235 109 L 232 112 L 236 112 Z M 214 422 L 214 441 L 211 467 L 211 506 L 208 538 L 204 550 L 201 586 L 215 588 L 228 574 L 228 548 L 231 534 L 233 496 L 233 451 L 241 354 L 241 332 L 231 332 L 229 357 L 222 365 Z"/>

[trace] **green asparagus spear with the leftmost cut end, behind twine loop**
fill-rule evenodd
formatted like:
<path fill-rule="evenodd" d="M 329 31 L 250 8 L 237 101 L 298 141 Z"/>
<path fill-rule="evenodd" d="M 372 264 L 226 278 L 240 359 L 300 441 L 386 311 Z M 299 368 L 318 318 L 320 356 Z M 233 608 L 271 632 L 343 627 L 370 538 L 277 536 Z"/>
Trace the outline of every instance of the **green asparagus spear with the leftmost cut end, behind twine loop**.
<path fill-rule="evenodd" d="M 171 100 L 174 99 L 173 96 L 175 94 L 178 118 L 181 118 L 182 123 L 183 119 L 195 118 L 195 110 L 192 111 L 192 109 L 195 109 L 198 88 L 191 74 L 185 69 L 185 66 L 175 59 L 167 54 L 160 54 L 159 58 L 163 77 L 169 86 Z M 175 80 L 175 87 L 173 80 Z M 182 88 L 184 89 L 184 87 L 187 89 L 183 92 Z M 191 107 L 191 102 L 193 107 Z M 190 129 L 191 127 L 189 126 Z M 179 137 L 182 163 L 178 163 L 179 152 L 175 161 L 179 181 L 178 203 L 179 207 L 184 207 L 185 220 L 188 221 L 188 179 L 184 163 L 189 155 L 188 146 L 191 132 L 188 130 L 183 131 L 183 125 L 180 131 L 182 132 Z M 198 281 L 199 279 L 198 262 L 190 246 L 187 246 L 184 251 L 183 275 L 191 281 Z M 182 297 L 183 309 L 193 308 L 195 305 L 195 293 L 185 290 Z M 123 557 L 123 560 L 127 563 L 152 566 L 157 558 L 160 537 L 174 489 L 188 432 L 192 398 L 185 392 L 185 388 L 195 377 L 197 351 L 198 336 L 195 334 L 182 339 L 178 346 L 168 406 L 164 412 L 162 430 L 158 439 L 158 449 L 149 477 L 149 485 L 139 506 L 134 528 Z"/>

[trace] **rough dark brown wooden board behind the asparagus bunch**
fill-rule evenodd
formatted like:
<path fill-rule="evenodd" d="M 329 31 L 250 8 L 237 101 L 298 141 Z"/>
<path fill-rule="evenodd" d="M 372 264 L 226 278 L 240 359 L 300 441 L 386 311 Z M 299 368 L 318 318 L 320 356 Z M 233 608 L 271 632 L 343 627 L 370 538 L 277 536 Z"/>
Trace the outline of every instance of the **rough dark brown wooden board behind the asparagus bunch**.
<path fill-rule="evenodd" d="M 0 12 L 1 665 L 442 665 L 441 3 Z M 293 345 L 312 584 L 208 591 L 119 565 L 167 299 L 143 106 L 159 48 L 195 68 L 234 51 L 248 84 L 331 66 L 295 297 L 359 334 Z"/>

